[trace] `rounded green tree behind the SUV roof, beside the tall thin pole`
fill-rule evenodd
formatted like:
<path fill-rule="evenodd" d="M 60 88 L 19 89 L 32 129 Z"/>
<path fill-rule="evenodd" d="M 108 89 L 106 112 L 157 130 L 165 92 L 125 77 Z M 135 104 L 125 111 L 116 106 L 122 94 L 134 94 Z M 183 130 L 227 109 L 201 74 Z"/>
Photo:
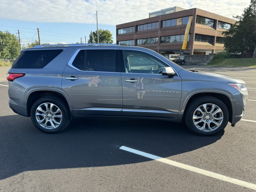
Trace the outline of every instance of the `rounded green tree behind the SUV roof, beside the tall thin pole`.
<path fill-rule="evenodd" d="M 90 33 L 88 43 L 97 43 L 97 31 Z M 99 43 L 113 43 L 113 37 L 109 30 L 99 29 Z"/>

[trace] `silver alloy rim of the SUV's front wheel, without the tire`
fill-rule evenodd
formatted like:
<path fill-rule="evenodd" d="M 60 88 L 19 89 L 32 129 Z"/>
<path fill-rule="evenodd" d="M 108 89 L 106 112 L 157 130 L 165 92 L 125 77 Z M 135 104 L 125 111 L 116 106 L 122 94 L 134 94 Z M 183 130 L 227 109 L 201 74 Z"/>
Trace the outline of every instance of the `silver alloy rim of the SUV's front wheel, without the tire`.
<path fill-rule="evenodd" d="M 210 132 L 216 130 L 223 121 L 223 112 L 215 104 L 203 104 L 193 114 L 193 122 L 200 131 Z"/>

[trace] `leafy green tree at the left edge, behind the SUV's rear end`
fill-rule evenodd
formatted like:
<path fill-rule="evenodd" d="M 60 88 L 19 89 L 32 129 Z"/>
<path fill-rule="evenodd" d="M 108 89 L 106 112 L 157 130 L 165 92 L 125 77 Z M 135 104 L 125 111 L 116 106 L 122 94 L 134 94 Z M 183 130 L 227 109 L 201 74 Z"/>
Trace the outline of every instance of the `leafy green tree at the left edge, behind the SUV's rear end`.
<path fill-rule="evenodd" d="M 20 45 L 16 36 L 0 31 L 0 59 L 16 59 L 19 55 Z"/>

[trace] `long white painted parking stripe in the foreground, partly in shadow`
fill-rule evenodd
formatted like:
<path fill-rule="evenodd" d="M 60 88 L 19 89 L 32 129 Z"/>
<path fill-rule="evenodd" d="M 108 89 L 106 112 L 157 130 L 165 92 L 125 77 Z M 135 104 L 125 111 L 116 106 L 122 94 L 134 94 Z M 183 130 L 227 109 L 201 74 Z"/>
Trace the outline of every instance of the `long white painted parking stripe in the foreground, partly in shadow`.
<path fill-rule="evenodd" d="M 233 184 L 236 184 L 236 185 L 240 185 L 240 186 L 243 186 L 243 187 L 246 187 L 246 188 L 256 190 L 256 184 L 241 181 L 241 180 L 231 178 L 231 177 L 228 177 L 228 176 L 224 176 L 224 175 L 221 175 L 221 174 L 218 174 L 218 173 L 206 171 L 206 170 L 203 170 L 203 169 L 200 169 L 200 168 L 196 168 L 196 167 L 193 167 L 193 166 L 182 164 L 182 163 L 172 161 L 172 160 L 169 160 L 169 159 L 166 159 L 166 158 L 158 157 L 158 156 L 155 156 L 155 155 L 152 155 L 152 154 L 149 154 L 149 153 L 145 153 L 145 152 L 142 152 L 142 151 L 138 151 L 138 150 L 135 150 L 135 149 L 132 149 L 132 148 L 128 148 L 128 147 L 125 147 L 125 146 L 120 147 L 120 149 L 131 152 L 131 153 L 134 153 L 134 154 L 138 154 L 140 156 L 144 156 L 144 157 L 156 160 L 156 161 L 160 161 L 162 163 L 166 163 L 166 164 L 169 164 L 169 165 L 172 165 L 172 166 L 176 166 L 178 168 L 186 169 L 186 170 L 193 171 L 193 172 L 196 172 L 196 173 L 199 173 L 199 174 L 202 174 L 202 175 L 206 175 L 206 176 L 209 176 L 209 177 L 212 177 L 212 178 L 216 178 L 216 179 L 219 179 L 219 180 L 222 180 L 222 181 L 230 182 L 230 183 L 233 183 Z"/>

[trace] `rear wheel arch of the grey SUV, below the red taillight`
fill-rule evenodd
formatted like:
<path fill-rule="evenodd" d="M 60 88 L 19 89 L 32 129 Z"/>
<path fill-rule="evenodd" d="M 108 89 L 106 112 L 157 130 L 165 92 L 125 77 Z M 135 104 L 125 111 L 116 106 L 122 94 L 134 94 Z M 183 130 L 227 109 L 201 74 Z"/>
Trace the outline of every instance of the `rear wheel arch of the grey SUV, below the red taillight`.
<path fill-rule="evenodd" d="M 54 96 L 56 98 L 59 98 L 66 104 L 69 109 L 71 108 L 68 96 L 64 92 L 62 92 L 62 90 L 56 88 L 35 88 L 29 90 L 24 99 L 24 104 L 25 106 L 27 106 L 28 116 L 30 116 L 30 110 L 34 102 L 44 96 Z"/>

